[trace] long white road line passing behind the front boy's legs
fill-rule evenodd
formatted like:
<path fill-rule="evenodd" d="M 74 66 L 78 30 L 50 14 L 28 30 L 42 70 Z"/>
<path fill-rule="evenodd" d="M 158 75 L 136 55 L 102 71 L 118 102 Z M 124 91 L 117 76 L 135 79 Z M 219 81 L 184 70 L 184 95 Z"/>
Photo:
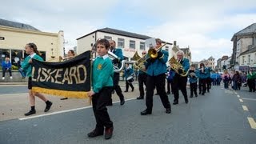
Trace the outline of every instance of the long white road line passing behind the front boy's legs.
<path fill-rule="evenodd" d="M 130 101 L 130 100 L 133 100 L 133 99 L 136 99 L 136 98 L 126 99 L 126 101 Z M 118 103 L 118 102 L 120 102 L 120 101 L 113 102 L 113 103 Z M 85 106 L 85 107 L 80 107 L 80 108 L 71 109 L 71 110 L 56 111 L 56 112 L 49 113 L 49 114 L 41 114 L 41 115 L 35 115 L 35 116 L 31 116 L 31 117 L 18 118 L 18 120 L 23 121 L 23 120 L 26 120 L 26 119 L 32 119 L 32 118 L 44 117 L 44 116 L 47 116 L 47 115 L 62 114 L 62 113 L 67 113 L 67 112 L 75 111 L 75 110 L 88 109 L 88 108 L 90 108 L 90 107 L 92 107 L 92 106 Z"/>

